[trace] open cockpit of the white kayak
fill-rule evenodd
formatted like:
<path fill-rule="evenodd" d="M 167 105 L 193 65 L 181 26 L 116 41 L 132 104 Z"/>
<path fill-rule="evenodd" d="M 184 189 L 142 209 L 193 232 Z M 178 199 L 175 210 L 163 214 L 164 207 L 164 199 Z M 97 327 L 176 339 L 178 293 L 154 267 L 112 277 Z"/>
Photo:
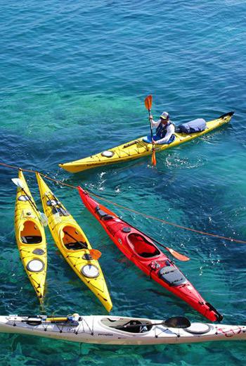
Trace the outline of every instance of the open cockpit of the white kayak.
<path fill-rule="evenodd" d="M 129 319 L 125 317 L 103 317 L 101 319 L 103 327 L 117 329 L 128 333 L 145 333 L 149 332 L 153 327 L 152 322 L 148 319 Z"/>

